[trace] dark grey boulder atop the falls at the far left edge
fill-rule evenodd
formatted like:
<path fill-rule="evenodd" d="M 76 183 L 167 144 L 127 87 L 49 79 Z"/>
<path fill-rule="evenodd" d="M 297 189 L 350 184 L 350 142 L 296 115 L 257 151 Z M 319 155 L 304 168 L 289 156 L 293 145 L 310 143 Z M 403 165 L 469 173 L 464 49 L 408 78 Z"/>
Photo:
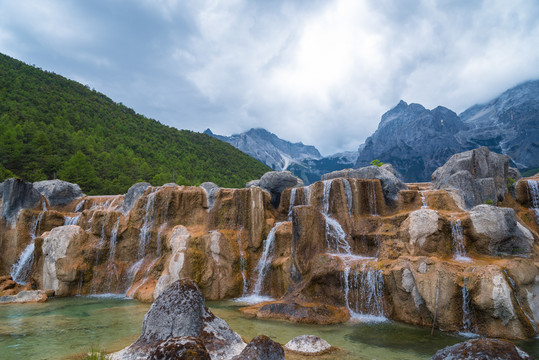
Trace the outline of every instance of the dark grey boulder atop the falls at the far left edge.
<path fill-rule="evenodd" d="M 31 183 L 11 178 L 3 183 L 2 217 L 14 224 L 22 209 L 32 209 L 39 205 L 41 194 Z"/>

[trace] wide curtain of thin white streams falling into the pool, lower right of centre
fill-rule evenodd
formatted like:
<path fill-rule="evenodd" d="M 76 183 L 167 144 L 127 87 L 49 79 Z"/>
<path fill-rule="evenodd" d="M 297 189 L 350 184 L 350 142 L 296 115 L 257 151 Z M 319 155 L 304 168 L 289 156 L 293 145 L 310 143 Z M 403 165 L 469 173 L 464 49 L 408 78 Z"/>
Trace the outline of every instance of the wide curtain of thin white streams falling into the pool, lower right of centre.
<path fill-rule="evenodd" d="M 386 321 L 382 270 L 373 268 L 370 260 L 361 260 L 360 267 L 355 266 L 352 270 L 350 259 L 341 260 L 344 263 L 344 299 L 350 317 L 363 322 Z"/>

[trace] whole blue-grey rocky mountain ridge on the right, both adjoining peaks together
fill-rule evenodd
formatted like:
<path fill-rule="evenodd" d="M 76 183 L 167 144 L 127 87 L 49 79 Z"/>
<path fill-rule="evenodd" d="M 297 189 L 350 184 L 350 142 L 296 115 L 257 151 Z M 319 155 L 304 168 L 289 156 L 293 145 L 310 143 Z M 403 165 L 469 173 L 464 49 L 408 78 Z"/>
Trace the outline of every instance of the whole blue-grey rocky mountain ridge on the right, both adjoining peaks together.
<path fill-rule="evenodd" d="M 373 159 L 393 164 L 405 181 L 430 181 L 451 155 L 487 146 L 521 170 L 539 167 L 539 80 L 517 85 L 460 115 L 400 101 L 382 115 L 359 151 L 356 167 Z"/>

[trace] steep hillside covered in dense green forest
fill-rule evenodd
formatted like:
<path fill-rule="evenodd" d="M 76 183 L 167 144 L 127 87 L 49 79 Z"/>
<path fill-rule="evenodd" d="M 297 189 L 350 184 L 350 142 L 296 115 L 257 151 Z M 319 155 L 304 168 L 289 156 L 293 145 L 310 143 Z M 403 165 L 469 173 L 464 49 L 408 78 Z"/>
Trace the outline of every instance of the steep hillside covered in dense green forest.
<path fill-rule="evenodd" d="M 136 114 L 62 76 L 0 54 L 0 181 L 59 178 L 87 194 L 138 181 L 243 187 L 270 170 L 232 145 Z"/>

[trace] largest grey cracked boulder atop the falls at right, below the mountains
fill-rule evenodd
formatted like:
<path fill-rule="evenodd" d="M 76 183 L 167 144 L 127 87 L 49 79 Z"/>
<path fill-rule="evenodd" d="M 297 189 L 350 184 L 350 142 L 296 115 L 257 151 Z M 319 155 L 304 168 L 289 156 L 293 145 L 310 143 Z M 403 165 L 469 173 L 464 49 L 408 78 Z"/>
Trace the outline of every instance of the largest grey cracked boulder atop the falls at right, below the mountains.
<path fill-rule="evenodd" d="M 470 209 L 487 201 L 503 201 L 511 175 L 515 176 L 507 155 L 481 147 L 451 156 L 434 171 L 432 182 L 435 189 L 456 192 L 457 204 Z"/>

